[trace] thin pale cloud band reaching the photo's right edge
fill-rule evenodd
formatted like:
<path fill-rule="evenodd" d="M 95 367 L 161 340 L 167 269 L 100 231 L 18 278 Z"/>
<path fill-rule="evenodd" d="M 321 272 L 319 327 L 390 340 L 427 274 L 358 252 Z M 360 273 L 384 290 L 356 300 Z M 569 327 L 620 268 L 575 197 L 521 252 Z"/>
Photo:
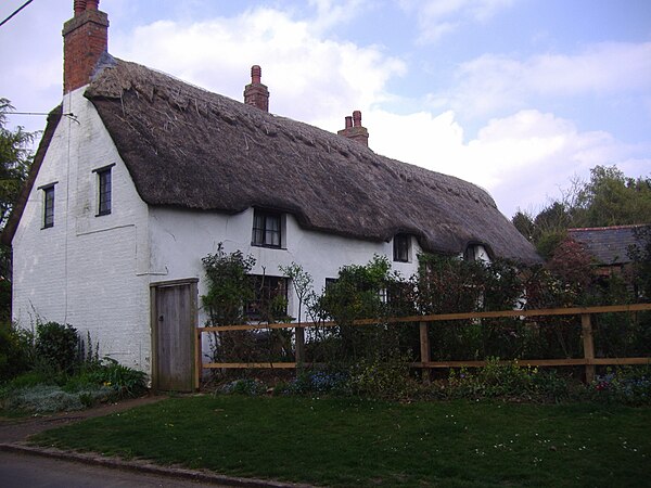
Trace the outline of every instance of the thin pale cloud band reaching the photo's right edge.
<path fill-rule="evenodd" d="M 651 42 L 598 43 L 577 54 L 524 61 L 486 54 L 461 64 L 456 78 L 452 90 L 431 100 L 475 117 L 521 108 L 535 97 L 644 95 L 651 87 Z"/>

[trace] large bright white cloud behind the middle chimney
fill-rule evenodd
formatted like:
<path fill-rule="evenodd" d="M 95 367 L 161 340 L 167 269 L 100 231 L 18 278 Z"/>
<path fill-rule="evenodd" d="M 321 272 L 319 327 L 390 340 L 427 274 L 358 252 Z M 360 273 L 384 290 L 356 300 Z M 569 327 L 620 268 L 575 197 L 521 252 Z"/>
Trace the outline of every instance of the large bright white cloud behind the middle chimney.
<path fill-rule="evenodd" d="M 379 48 L 323 39 L 309 22 L 272 9 L 187 25 L 157 22 L 114 38 L 113 52 L 235 100 L 259 64 L 270 111 L 299 120 L 343 120 L 387 98 L 387 80 L 406 70 Z"/>

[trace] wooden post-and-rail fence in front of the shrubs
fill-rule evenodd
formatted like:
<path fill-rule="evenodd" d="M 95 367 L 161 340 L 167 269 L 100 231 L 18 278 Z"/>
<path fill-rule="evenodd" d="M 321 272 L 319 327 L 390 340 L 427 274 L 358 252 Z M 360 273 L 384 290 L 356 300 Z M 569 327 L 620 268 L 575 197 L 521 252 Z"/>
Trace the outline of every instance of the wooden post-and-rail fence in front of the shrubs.
<path fill-rule="evenodd" d="M 480 320 L 480 319 L 499 319 L 506 317 L 550 317 L 550 316 L 580 316 L 582 339 L 584 357 L 576 359 L 559 358 L 559 359 L 518 359 L 522 365 L 532 367 L 585 367 L 586 382 L 590 383 L 595 380 L 595 369 L 597 365 L 625 365 L 625 364 L 651 364 L 651 357 L 642 358 L 596 358 L 595 343 L 592 338 L 592 321 L 591 317 L 598 313 L 614 313 L 614 312 L 637 312 L 651 310 L 651 304 L 634 304 L 634 305 L 611 305 L 601 307 L 572 307 L 572 308 L 550 308 L 539 310 L 502 310 L 487 312 L 471 312 L 471 313 L 442 313 L 434 316 L 411 316 L 396 317 L 383 319 L 383 324 L 407 324 L 418 323 L 420 330 L 420 361 L 411 364 L 412 368 L 423 370 L 424 381 L 429 381 L 429 372 L 436 368 L 462 368 L 462 367 L 482 367 L 486 361 L 432 361 L 429 328 L 436 322 L 443 321 L 461 321 L 461 320 Z M 353 325 L 372 325 L 376 324 L 378 319 L 356 320 Z M 304 344 L 296 344 L 296 360 L 295 362 L 210 362 L 202 361 L 202 334 L 209 332 L 228 332 L 228 331 L 259 331 L 268 329 L 295 329 L 296 338 L 298 342 L 304 337 L 302 333 L 305 329 L 317 326 L 336 326 L 335 322 L 314 322 L 301 323 L 272 323 L 260 325 L 222 325 L 210 328 L 197 328 L 195 344 L 195 377 L 194 386 L 200 387 L 201 374 L 204 369 L 294 369 L 298 364 L 304 363 Z M 502 361 L 509 363 L 512 361 Z"/>

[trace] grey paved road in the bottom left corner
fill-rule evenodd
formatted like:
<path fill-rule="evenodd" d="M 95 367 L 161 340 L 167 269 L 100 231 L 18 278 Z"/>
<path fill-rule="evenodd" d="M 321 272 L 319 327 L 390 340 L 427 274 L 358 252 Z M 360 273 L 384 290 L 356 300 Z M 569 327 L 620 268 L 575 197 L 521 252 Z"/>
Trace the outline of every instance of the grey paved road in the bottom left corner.
<path fill-rule="evenodd" d="M 225 487 L 0 451 L 2 488 Z"/>

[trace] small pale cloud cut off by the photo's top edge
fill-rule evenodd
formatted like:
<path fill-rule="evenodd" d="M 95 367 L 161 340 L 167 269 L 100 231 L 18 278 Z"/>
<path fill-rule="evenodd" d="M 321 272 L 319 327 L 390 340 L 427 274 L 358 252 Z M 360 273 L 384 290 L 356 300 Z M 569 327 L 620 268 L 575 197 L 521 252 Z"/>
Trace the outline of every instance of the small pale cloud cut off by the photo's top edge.
<path fill-rule="evenodd" d="M 436 42 L 469 23 L 483 23 L 515 0 L 400 0 L 418 18 L 419 41 Z"/>

